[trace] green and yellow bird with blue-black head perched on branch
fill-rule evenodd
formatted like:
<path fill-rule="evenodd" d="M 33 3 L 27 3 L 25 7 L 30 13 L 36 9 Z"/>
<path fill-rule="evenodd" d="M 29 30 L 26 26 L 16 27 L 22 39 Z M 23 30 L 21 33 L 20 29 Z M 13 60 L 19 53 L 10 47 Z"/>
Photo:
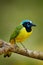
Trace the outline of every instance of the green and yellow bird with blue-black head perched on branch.
<path fill-rule="evenodd" d="M 32 27 L 35 27 L 36 24 L 33 24 L 31 20 L 23 20 L 12 33 L 9 42 L 13 45 L 16 43 L 21 43 L 29 38 L 32 34 Z M 22 44 L 25 48 L 25 46 Z M 26 49 L 26 48 L 25 48 Z M 11 52 L 5 53 L 4 57 L 10 57 Z"/>

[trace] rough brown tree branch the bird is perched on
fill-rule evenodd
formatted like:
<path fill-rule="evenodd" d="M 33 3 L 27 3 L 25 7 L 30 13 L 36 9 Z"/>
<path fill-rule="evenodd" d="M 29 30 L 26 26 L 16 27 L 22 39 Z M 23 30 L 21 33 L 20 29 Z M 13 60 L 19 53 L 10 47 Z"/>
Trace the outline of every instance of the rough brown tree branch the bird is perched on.
<path fill-rule="evenodd" d="M 0 40 L 0 55 L 7 53 L 8 51 L 14 52 L 14 53 L 17 53 L 17 54 L 20 54 L 20 55 L 23 55 L 23 56 L 43 60 L 43 52 L 32 51 L 32 50 L 28 50 L 28 49 L 27 49 L 27 52 L 26 52 L 25 49 L 21 49 L 17 46 L 12 46 L 10 43 L 7 43 L 3 40 Z"/>

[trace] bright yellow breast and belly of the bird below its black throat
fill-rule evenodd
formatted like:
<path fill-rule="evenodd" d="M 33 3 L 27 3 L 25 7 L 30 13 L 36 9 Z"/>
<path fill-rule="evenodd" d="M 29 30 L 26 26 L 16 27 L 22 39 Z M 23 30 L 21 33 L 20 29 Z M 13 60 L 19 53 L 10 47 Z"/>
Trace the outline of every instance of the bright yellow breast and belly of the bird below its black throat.
<path fill-rule="evenodd" d="M 25 27 L 20 30 L 19 35 L 16 37 L 16 42 L 22 42 L 31 35 L 31 32 L 27 32 Z"/>

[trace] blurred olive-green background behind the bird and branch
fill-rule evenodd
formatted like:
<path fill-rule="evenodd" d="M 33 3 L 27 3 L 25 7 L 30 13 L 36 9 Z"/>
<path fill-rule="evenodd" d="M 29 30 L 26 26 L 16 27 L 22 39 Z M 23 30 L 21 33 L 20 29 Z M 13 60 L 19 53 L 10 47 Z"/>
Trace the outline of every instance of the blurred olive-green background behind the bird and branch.
<path fill-rule="evenodd" d="M 0 39 L 9 42 L 15 27 L 24 19 L 37 25 L 24 45 L 31 50 L 43 51 L 43 0 L 0 0 Z M 10 58 L 0 55 L 0 65 L 43 65 L 43 61 L 14 53 Z"/>

